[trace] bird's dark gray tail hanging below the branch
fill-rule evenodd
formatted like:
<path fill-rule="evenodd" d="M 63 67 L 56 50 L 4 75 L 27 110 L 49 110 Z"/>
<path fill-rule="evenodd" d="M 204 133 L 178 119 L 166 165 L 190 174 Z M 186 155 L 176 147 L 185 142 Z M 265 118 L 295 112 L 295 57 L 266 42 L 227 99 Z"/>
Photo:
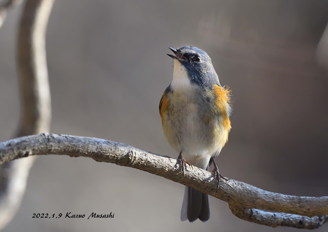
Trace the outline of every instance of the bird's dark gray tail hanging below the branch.
<path fill-rule="evenodd" d="M 189 222 L 194 222 L 199 218 L 202 222 L 206 222 L 209 215 L 208 195 L 186 186 L 181 208 L 181 221 L 188 219 Z"/>

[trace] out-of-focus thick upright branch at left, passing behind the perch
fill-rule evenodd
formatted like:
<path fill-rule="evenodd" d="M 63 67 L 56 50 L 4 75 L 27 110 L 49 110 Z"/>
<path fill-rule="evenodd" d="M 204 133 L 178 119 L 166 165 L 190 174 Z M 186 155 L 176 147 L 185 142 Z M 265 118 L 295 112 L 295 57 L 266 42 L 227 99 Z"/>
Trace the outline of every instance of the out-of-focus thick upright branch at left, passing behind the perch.
<path fill-rule="evenodd" d="M 20 1 L 6 1 L 2 12 Z M 17 38 L 17 69 L 21 115 L 15 137 L 47 132 L 50 127 L 50 89 L 45 34 L 53 0 L 27 0 Z M 5 13 L 1 15 L 3 20 Z M 0 170 L 0 229 L 15 215 L 22 201 L 34 158 L 6 163 Z"/>

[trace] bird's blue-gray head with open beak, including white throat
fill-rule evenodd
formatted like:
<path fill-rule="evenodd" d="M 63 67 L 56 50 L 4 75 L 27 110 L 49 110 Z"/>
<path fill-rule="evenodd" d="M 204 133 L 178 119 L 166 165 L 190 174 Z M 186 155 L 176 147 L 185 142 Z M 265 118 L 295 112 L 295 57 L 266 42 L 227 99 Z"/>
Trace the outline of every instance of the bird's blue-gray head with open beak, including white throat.
<path fill-rule="evenodd" d="M 220 85 L 210 57 L 202 49 L 191 46 L 169 49 L 175 53 L 175 55 L 167 54 L 174 60 L 172 85 L 187 86 L 188 83 L 201 87 Z"/>

